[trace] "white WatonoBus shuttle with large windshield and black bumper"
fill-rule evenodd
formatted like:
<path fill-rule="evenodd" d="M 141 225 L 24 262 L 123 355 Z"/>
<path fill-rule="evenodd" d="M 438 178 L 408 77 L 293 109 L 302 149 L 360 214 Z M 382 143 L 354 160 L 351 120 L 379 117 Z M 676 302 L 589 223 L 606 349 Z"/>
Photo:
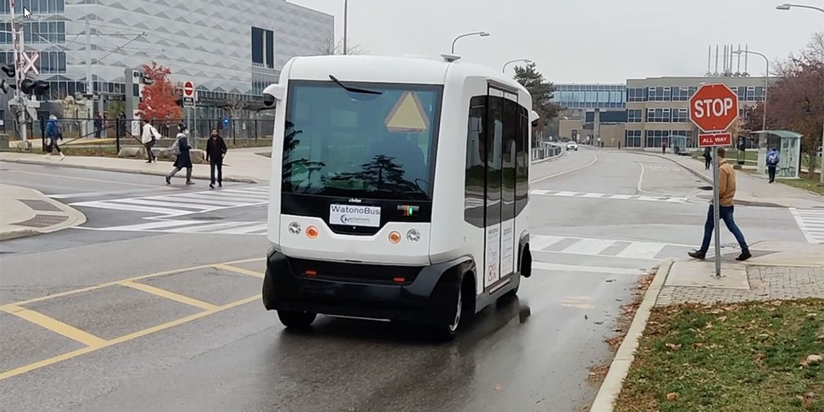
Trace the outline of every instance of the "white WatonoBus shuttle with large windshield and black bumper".
<path fill-rule="evenodd" d="M 443 59 L 297 57 L 275 108 L 263 301 L 316 315 L 461 320 L 531 274 L 531 97 Z"/>

